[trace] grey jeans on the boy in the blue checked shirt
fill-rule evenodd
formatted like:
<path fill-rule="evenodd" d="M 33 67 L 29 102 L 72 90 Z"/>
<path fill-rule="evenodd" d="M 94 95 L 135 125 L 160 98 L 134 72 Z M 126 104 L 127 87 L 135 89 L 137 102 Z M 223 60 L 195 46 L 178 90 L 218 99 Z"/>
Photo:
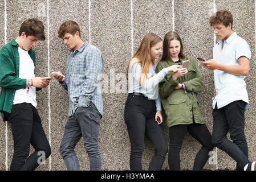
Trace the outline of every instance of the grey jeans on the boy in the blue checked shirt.
<path fill-rule="evenodd" d="M 68 171 L 79 171 L 79 161 L 74 148 L 83 137 L 84 147 L 90 159 L 90 170 L 101 170 L 101 156 L 98 145 L 101 115 L 93 102 L 88 107 L 78 107 L 68 118 L 60 144 L 62 155 Z"/>

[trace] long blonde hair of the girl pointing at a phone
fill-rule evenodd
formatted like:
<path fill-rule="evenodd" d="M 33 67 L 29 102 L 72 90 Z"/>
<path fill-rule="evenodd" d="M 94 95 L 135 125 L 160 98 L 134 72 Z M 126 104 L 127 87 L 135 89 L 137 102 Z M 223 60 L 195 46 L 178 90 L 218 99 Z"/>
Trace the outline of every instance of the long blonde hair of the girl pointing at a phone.
<path fill-rule="evenodd" d="M 128 68 L 126 71 L 126 77 L 128 80 L 128 69 L 131 60 L 135 60 L 136 63 L 141 64 L 141 73 L 139 83 L 141 86 L 144 86 L 145 80 L 148 78 L 148 71 L 150 64 L 155 64 L 151 59 L 151 47 L 155 46 L 157 43 L 161 42 L 162 39 L 153 33 L 148 33 L 140 42 L 140 46 L 137 48 L 135 54 L 128 62 Z"/>

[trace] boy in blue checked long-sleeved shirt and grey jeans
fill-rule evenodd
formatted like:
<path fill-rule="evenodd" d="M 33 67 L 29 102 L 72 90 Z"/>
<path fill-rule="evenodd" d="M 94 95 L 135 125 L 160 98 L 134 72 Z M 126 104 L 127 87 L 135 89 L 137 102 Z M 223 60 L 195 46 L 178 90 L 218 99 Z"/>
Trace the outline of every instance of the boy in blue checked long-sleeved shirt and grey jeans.
<path fill-rule="evenodd" d="M 60 154 L 67 170 L 80 170 L 74 148 L 83 137 L 84 147 L 90 159 L 90 170 L 101 170 L 101 155 L 98 146 L 100 119 L 103 116 L 103 101 L 100 92 L 100 76 L 103 59 L 101 52 L 88 42 L 83 42 L 78 24 L 64 22 L 58 36 L 70 48 L 67 57 L 67 75 L 54 75 L 64 89 L 68 90 L 70 105 Z"/>

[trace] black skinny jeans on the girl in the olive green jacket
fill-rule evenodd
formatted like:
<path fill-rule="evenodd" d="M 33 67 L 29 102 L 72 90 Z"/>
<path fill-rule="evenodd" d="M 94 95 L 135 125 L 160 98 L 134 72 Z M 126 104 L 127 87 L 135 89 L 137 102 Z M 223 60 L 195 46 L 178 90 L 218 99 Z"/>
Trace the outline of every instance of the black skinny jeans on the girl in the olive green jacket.
<path fill-rule="evenodd" d="M 169 154 L 168 163 L 170 171 L 180 171 L 180 150 L 186 131 L 202 144 L 194 159 L 193 171 L 201 171 L 204 168 L 209 152 L 213 150 L 212 135 L 205 124 L 192 123 L 190 125 L 174 125 L 169 127 Z M 189 151 L 188 151 L 189 152 Z"/>

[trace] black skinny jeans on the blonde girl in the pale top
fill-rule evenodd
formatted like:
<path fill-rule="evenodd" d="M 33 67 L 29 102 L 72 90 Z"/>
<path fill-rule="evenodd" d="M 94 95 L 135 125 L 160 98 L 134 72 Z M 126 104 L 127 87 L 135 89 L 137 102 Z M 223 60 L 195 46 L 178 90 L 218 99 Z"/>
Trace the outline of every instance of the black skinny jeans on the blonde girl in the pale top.
<path fill-rule="evenodd" d="M 142 170 L 141 156 L 144 147 L 144 135 L 155 148 L 149 170 L 161 170 L 168 146 L 161 125 L 155 120 L 155 100 L 147 97 L 128 94 L 124 109 L 124 121 L 127 125 L 131 142 L 130 168 L 132 171 Z"/>

